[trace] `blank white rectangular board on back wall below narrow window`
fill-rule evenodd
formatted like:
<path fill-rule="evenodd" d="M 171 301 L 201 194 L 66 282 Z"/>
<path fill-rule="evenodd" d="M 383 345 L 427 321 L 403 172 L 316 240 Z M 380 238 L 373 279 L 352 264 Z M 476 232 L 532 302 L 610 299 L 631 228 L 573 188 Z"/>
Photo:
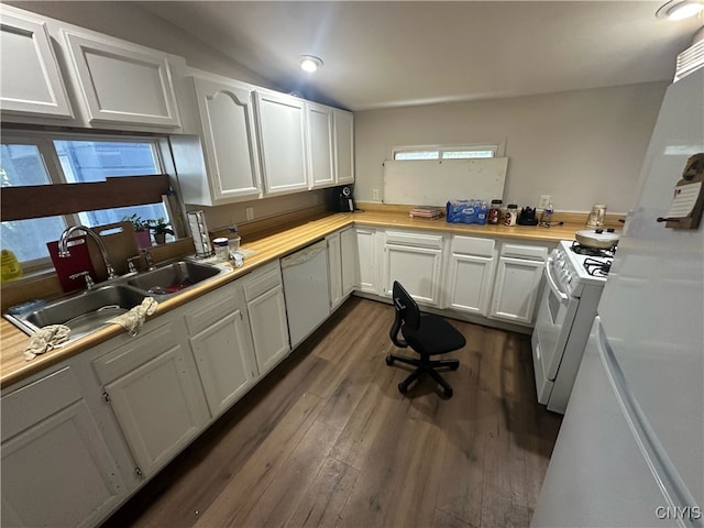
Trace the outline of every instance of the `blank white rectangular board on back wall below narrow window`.
<path fill-rule="evenodd" d="M 504 197 L 507 157 L 384 162 L 384 204 L 444 206 Z"/>

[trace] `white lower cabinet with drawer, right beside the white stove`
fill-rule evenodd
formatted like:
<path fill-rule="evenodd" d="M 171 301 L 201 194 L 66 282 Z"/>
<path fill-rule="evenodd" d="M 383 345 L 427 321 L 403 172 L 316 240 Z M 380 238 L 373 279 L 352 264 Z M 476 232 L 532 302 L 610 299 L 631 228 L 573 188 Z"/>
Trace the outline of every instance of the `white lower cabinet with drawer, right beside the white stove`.
<path fill-rule="evenodd" d="M 492 296 L 492 319 L 532 324 L 548 248 L 504 243 Z"/>

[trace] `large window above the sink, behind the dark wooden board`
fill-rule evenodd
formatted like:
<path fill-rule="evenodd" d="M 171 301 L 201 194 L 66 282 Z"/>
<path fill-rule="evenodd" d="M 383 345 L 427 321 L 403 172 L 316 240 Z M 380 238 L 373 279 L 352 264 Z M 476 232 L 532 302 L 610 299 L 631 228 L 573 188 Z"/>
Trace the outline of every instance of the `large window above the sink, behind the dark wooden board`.
<path fill-rule="evenodd" d="M 156 140 L 82 138 L 8 138 L 0 150 L 0 186 L 105 182 L 108 176 L 162 174 Z M 168 219 L 163 204 L 78 211 L 62 216 L 9 220 L 1 223 L 2 248 L 12 250 L 23 267 L 48 264 L 46 243 L 57 240 L 69 224 L 95 227 L 121 221 L 125 216 Z"/>

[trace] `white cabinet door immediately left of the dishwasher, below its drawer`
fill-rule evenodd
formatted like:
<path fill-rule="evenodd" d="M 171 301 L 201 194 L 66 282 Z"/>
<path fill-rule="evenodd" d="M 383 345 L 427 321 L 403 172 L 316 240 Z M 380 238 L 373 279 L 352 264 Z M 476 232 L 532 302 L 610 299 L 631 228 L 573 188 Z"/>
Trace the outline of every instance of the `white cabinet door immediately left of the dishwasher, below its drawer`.
<path fill-rule="evenodd" d="M 276 286 L 248 301 L 248 310 L 256 364 L 263 376 L 290 351 L 284 288 Z"/>

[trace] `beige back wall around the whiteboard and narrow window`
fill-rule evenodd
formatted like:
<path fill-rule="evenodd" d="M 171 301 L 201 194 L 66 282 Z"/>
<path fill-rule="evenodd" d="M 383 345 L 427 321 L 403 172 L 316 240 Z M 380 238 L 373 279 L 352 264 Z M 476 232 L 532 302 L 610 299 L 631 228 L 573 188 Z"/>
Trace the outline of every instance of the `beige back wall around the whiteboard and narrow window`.
<path fill-rule="evenodd" d="M 355 112 L 354 195 L 383 199 L 383 162 L 398 145 L 505 142 L 504 202 L 558 211 L 604 202 L 626 212 L 667 82 Z M 450 198 L 472 198 L 449 196 Z"/>

